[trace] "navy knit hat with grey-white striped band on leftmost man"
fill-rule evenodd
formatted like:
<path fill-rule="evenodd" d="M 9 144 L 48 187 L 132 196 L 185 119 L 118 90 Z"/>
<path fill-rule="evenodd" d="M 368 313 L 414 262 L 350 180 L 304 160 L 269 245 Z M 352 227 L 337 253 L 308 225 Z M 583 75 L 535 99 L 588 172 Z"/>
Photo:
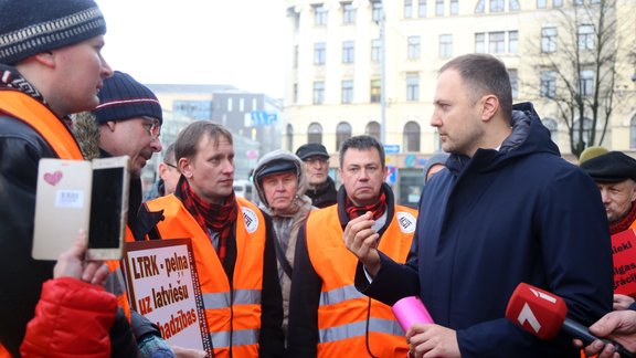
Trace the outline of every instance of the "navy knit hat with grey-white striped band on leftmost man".
<path fill-rule="evenodd" d="M 65 48 L 106 33 L 93 0 L 0 0 L 0 63 Z"/>

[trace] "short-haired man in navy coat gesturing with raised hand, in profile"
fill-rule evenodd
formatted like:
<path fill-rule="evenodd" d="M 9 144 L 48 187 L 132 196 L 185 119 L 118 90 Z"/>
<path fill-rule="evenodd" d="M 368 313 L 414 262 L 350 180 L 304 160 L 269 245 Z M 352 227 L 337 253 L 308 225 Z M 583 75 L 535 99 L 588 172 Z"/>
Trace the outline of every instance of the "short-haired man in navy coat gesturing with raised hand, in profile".
<path fill-rule="evenodd" d="M 344 240 L 364 266 L 357 287 L 388 304 L 422 298 L 435 324 L 406 334 L 415 357 L 577 357 L 571 337 L 542 341 L 505 313 L 521 282 L 564 298 L 583 325 L 612 309 L 610 231 L 594 182 L 560 157 L 531 104 L 512 106 L 494 56 L 445 64 L 434 106 L 431 125 L 451 158 L 424 187 L 416 250 L 396 264 L 374 249 L 369 215 L 349 222 Z"/>

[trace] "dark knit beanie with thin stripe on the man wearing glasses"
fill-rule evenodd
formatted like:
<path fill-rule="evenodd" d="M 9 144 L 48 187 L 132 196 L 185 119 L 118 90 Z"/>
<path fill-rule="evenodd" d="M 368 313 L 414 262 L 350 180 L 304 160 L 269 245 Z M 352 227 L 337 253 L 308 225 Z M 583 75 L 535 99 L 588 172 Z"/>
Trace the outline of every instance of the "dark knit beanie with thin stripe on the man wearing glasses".
<path fill-rule="evenodd" d="M 100 124 L 138 117 L 152 117 L 163 123 L 157 96 L 127 73 L 115 71 L 112 77 L 104 80 L 98 96 L 99 105 L 93 113 Z"/>

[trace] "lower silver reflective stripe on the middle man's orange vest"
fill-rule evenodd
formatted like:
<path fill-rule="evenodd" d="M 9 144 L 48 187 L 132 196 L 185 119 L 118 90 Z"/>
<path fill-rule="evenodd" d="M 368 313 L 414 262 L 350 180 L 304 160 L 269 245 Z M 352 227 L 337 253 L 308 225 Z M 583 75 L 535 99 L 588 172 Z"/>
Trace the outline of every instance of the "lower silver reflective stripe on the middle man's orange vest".
<path fill-rule="evenodd" d="M 400 324 L 393 319 L 370 318 L 369 331 L 383 333 L 394 336 L 403 336 L 404 330 Z M 354 322 L 342 326 L 320 329 L 318 339 L 320 343 L 342 340 L 353 337 L 364 337 L 367 335 L 367 320 Z"/>

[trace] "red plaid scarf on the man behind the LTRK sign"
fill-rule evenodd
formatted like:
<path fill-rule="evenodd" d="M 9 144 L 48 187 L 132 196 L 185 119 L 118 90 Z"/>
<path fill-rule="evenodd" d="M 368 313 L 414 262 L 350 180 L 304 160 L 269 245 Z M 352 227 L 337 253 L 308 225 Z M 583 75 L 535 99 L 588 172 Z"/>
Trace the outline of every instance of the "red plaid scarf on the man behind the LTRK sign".
<path fill-rule="evenodd" d="M 197 220 L 203 231 L 208 232 L 208 229 L 210 229 L 219 233 L 216 254 L 219 255 L 219 260 L 223 262 L 227 253 L 227 238 L 230 238 L 232 233 L 232 225 L 236 222 L 239 214 L 239 206 L 236 204 L 234 191 L 225 199 L 225 203 L 223 204 L 209 203 L 192 191 L 188 180 L 181 179 L 179 182 L 178 197 L 181 198 L 183 206 L 192 214 L 194 220 Z"/>

